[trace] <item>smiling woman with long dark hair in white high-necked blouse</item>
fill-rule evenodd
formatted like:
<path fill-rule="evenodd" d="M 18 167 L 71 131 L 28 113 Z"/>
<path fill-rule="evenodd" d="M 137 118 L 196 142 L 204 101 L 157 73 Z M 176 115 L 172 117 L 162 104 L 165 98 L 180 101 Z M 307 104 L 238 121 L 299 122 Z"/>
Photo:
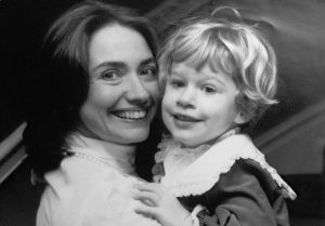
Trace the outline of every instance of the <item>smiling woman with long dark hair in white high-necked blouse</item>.
<path fill-rule="evenodd" d="M 158 225 L 135 214 L 132 199 L 135 145 L 148 137 L 159 95 L 155 56 L 152 27 L 123 8 L 87 1 L 52 25 L 24 134 L 48 184 L 37 225 Z"/>

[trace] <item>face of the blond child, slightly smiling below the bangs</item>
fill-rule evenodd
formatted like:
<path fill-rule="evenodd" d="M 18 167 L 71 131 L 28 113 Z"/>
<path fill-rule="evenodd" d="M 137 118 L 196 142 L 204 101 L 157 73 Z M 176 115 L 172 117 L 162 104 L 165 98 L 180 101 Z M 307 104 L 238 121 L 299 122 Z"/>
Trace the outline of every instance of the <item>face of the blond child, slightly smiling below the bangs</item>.
<path fill-rule="evenodd" d="M 235 125 L 240 117 L 233 79 L 205 65 L 173 64 L 162 98 L 162 120 L 184 146 L 211 143 Z"/>

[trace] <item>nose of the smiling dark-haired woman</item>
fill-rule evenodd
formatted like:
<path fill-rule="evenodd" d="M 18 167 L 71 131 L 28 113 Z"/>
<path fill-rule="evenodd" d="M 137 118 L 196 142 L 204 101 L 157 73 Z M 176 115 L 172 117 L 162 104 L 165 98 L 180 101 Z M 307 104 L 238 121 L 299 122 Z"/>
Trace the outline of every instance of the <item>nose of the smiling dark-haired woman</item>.
<path fill-rule="evenodd" d="M 129 87 L 127 98 L 129 102 L 147 104 L 150 102 L 150 92 L 147 91 L 144 81 L 139 76 L 129 78 Z"/>

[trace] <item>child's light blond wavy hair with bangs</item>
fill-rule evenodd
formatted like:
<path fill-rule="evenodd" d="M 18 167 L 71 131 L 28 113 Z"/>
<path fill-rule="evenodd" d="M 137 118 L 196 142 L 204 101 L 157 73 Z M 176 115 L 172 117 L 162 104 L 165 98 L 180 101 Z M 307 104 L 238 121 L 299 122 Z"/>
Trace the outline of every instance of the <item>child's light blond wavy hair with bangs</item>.
<path fill-rule="evenodd" d="M 270 105 L 277 103 L 274 50 L 256 26 L 217 17 L 218 12 L 184 21 L 167 38 L 158 53 L 161 90 L 173 63 L 185 62 L 197 69 L 208 64 L 212 70 L 233 78 L 239 110 L 249 121 L 256 121 Z"/>

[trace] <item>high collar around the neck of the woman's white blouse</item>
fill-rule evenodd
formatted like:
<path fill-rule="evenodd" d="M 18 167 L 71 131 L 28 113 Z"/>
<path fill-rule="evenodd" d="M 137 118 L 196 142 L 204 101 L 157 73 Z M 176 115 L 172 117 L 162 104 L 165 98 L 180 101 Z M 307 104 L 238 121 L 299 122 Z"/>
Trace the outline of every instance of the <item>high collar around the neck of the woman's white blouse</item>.
<path fill-rule="evenodd" d="M 135 147 L 73 134 L 67 138 L 67 156 L 112 167 L 122 174 L 135 174 Z"/>

